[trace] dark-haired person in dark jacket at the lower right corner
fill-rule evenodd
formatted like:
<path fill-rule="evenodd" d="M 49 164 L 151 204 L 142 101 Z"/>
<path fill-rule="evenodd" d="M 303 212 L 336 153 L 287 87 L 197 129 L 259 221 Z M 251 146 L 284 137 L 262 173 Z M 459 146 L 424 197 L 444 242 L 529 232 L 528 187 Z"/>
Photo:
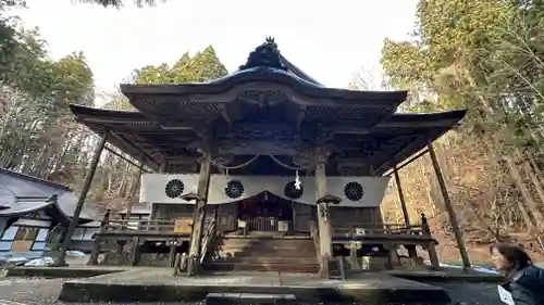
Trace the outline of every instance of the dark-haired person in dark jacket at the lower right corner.
<path fill-rule="evenodd" d="M 502 284 L 511 293 L 515 305 L 544 305 L 544 270 L 534 266 L 521 247 L 496 244 L 491 247 L 495 267 L 505 272 Z"/>

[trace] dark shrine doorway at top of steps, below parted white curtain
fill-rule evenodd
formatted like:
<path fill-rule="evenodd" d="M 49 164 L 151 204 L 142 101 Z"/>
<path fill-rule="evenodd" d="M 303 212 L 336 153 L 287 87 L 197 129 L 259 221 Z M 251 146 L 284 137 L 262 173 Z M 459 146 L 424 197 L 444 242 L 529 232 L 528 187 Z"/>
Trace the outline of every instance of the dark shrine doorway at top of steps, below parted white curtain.
<path fill-rule="evenodd" d="M 238 228 L 247 232 L 290 232 L 293 216 L 290 201 L 267 191 L 238 202 Z"/>

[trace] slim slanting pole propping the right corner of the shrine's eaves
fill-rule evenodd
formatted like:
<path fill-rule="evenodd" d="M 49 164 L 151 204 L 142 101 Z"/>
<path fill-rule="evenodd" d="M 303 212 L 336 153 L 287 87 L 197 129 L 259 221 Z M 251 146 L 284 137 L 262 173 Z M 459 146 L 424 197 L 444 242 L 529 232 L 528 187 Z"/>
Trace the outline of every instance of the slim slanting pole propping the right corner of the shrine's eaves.
<path fill-rule="evenodd" d="M 426 145 L 429 148 L 429 154 L 431 155 L 431 161 L 433 163 L 434 171 L 436 174 L 436 179 L 438 180 L 438 186 L 441 188 L 442 196 L 444 198 L 444 205 L 447 212 L 447 216 L 449 218 L 449 224 L 452 225 L 452 229 L 454 230 L 457 245 L 459 246 L 459 253 L 461 254 L 463 269 L 469 269 L 470 268 L 469 255 L 467 253 L 467 247 L 465 246 L 462 232 L 459 229 L 459 225 L 457 224 L 457 215 L 455 213 L 454 206 L 449 199 L 449 194 L 447 192 L 446 181 L 444 180 L 444 176 L 442 175 L 442 170 L 438 164 L 438 158 L 436 157 L 436 153 L 434 152 L 434 148 L 431 140 L 428 140 Z"/>

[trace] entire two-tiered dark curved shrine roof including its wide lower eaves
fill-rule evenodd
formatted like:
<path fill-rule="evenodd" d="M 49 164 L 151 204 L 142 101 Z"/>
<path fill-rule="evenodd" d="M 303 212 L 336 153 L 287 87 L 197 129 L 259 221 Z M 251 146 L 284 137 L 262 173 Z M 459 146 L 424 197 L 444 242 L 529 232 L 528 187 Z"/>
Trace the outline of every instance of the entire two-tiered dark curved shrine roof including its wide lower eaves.
<path fill-rule="evenodd" d="M 154 169 L 164 160 L 196 164 L 202 135 L 212 135 L 218 151 L 235 156 L 293 156 L 323 141 L 336 148 L 331 161 L 338 168 L 363 163 L 366 175 L 381 175 L 466 113 L 396 114 L 406 91 L 325 88 L 282 56 L 270 38 L 223 78 L 121 90 L 137 112 L 77 105 L 72 112 L 95 132 L 110 131 L 112 144 L 137 160 L 145 156 Z"/>

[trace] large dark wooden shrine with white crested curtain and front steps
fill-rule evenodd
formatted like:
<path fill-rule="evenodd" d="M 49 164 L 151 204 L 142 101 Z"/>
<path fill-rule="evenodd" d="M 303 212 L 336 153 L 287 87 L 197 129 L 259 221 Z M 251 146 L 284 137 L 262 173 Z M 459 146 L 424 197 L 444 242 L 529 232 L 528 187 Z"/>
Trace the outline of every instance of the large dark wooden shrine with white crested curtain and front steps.
<path fill-rule="evenodd" d="M 148 212 L 139 208 L 134 218 L 128 208 L 124 220 L 104 219 L 98 234 L 97 245 L 119 243 L 124 264 L 168 266 L 186 253 L 189 275 L 203 265 L 326 277 L 335 257 L 350 256 L 356 266 L 361 256 L 383 255 L 392 267 L 398 247 L 416 258 L 421 245 L 437 265 L 424 219 L 421 227 L 404 208 L 406 224 L 383 224 L 380 203 L 390 175 L 429 151 L 454 215 L 431 143 L 465 110 L 400 114 L 406 91 L 326 88 L 288 62 L 273 39 L 223 78 L 121 90 L 137 111 L 72 105 L 72 112 L 102 137 L 96 162 L 109 142 L 154 171 L 141 178 Z M 458 240 L 469 266 L 460 233 Z"/>

